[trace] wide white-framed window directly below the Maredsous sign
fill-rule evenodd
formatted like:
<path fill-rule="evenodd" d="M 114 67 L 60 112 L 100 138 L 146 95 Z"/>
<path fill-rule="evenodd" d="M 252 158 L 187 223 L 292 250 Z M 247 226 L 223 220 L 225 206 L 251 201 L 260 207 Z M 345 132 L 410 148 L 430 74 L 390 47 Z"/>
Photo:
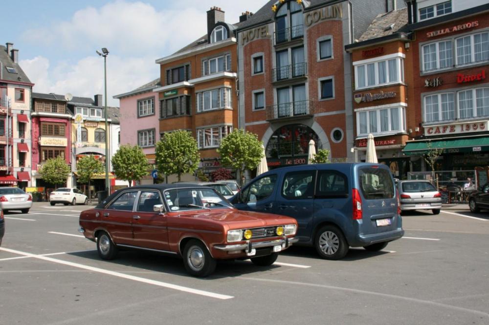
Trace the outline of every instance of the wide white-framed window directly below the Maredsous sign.
<path fill-rule="evenodd" d="M 372 109 L 356 113 L 357 134 L 397 133 L 404 131 L 404 107 Z"/>

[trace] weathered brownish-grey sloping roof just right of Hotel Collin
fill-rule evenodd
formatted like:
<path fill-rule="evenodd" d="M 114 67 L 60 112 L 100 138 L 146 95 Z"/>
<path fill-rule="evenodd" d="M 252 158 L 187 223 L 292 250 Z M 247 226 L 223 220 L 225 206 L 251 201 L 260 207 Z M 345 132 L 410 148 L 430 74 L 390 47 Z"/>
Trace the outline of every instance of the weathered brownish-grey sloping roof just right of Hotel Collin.
<path fill-rule="evenodd" d="M 358 41 L 367 41 L 396 33 L 407 24 L 407 8 L 378 15 L 360 36 Z"/>

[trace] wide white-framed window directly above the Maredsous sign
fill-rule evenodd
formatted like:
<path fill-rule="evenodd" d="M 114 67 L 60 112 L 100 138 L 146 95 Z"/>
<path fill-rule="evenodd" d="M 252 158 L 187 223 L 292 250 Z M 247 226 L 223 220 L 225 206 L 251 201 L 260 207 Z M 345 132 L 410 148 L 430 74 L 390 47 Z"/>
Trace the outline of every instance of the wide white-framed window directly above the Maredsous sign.
<path fill-rule="evenodd" d="M 404 81 L 404 60 L 399 54 L 393 59 L 355 63 L 356 89 Z M 403 56 L 403 55 L 402 55 Z M 392 57 L 392 56 L 391 56 Z"/>

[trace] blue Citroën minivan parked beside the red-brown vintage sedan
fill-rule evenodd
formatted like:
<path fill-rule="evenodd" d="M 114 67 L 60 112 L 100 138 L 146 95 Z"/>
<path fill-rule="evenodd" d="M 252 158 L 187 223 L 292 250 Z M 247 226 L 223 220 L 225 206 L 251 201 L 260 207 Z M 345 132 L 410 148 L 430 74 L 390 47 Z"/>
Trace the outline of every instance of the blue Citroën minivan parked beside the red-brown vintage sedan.
<path fill-rule="evenodd" d="M 349 247 L 381 250 L 404 234 L 399 194 L 383 164 L 277 168 L 253 179 L 230 201 L 240 210 L 295 218 L 297 244 L 314 246 L 328 260 L 343 258 Z"/>

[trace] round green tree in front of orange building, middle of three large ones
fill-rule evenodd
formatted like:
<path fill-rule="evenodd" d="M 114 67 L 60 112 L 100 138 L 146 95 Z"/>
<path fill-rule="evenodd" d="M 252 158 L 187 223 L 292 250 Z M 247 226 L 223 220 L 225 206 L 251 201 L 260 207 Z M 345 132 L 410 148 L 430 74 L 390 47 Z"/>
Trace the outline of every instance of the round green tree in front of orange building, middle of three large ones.
<path fill-rule="evenodd" d="M 182 174 L 193 174 L 199 168 L 197 141 L 185 130 L 165 134 L 156 143 L 155 155 L 158 171 L 166 175 L 177 174 L 178 182 Z"/>

